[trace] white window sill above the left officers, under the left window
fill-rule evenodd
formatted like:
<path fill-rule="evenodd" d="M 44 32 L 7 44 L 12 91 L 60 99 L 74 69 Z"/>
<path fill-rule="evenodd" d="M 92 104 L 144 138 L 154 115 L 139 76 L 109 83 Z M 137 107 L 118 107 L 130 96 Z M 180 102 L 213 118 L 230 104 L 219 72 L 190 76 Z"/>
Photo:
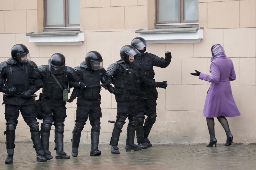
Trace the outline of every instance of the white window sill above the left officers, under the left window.
<path fill-rule="evenodd" d="M 84 41 L 83 31 L 45 31 L 26 33 L 29 42 L 36 45 L 81 45 Z"/>

